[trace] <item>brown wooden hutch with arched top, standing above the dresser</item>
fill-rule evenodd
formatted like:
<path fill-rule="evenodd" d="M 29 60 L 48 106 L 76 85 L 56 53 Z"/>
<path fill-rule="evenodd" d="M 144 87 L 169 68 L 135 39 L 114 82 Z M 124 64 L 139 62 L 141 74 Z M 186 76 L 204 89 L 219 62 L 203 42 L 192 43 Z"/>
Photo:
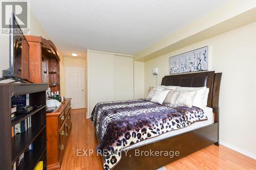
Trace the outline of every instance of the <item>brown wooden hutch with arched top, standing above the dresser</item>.
<path fill-rule="evenodd" d="M 29 42 L 29 81 L 49 84 L 51 91 L 60 91 L 59 62 L 56 46 L 51 40 L 26 35 Z"/>

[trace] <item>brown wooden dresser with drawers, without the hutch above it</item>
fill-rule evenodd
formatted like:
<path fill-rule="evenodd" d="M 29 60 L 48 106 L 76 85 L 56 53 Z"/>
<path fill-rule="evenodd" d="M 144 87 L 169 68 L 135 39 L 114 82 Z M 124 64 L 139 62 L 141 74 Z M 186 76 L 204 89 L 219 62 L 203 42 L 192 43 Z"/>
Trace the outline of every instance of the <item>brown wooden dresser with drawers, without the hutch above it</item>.
<path fill-rule="evenodd" d="M 46 114 L 47 169 L 60 169 L 71 132 L 71 99 Z"/>

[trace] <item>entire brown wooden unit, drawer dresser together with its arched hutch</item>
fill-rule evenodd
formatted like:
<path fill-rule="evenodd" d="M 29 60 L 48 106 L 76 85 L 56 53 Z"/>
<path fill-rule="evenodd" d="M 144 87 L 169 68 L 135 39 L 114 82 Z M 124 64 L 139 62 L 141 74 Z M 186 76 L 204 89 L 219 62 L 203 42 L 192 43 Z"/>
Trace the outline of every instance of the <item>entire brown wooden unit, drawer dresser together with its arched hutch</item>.
<path fill-rule="evenodd" d="M 26 36 L 29 47 L 30 78 L 33 83 L 49 84 L 51 91 L 60 92 L 58 51 L 51 40 Z M 71 99 L 46 114 L 47 169 L 60 169 L 63 154 L 71 132 Z"/>

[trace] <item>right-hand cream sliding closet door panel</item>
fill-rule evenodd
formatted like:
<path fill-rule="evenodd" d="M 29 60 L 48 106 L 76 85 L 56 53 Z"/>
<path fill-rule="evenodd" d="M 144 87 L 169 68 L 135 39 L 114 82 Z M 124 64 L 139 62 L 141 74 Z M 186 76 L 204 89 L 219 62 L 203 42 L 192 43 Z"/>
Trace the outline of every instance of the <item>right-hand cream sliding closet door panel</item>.
<path fill-rule="evenodd" d="M 134 99 L 134 58 L 115 55 L 115 100 Z"/>

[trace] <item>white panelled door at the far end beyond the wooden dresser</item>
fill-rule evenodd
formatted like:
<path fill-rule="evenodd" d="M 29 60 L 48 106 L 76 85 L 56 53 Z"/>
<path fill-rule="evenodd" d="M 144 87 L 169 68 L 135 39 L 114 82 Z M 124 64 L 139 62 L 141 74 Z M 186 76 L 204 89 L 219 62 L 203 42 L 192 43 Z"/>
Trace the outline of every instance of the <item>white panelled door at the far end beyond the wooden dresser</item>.
<path fill-rule="evenodd" d="M 66 66 L 66 98 L 72 98 L 72 109 L 84 108 L 84 68 Z"/>

